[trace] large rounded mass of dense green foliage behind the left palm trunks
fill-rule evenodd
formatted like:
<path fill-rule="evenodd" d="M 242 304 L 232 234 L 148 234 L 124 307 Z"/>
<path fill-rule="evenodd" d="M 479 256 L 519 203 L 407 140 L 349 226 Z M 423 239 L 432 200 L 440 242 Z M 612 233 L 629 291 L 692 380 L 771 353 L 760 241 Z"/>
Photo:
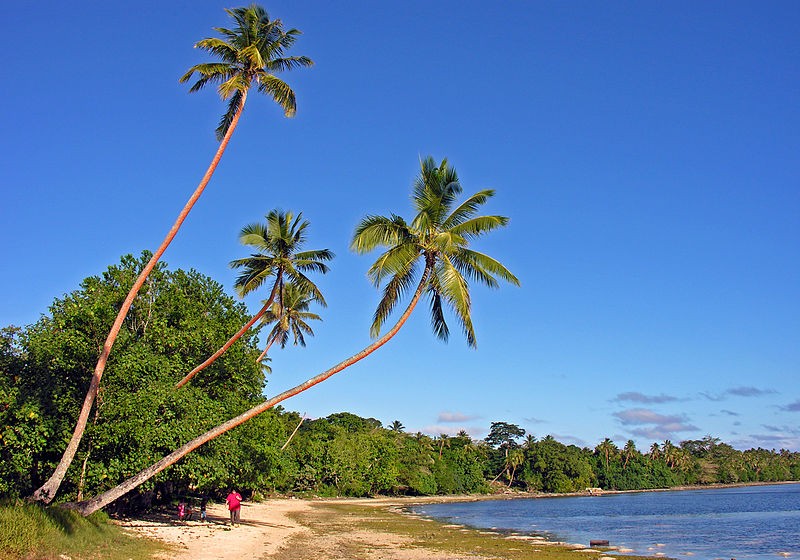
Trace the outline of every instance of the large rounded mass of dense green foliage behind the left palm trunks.
<path fill-rule="evenodd" d="M 124 257 L 23 331 L 3 332 L 0 426 L 3 493 L 25 494 L 52 472 L 71 435 L 108 325 L 149 255 Z M 173 385 L 246 322 L 247 310 L 197 272 L 153 271 L 125 320 L 65 498 L 109 488 L 261 398 L 254 336 L 181 391 Z M 220 438 L 158 479 L 217 487 L 236 463 Z M 6 460 L 6 457 L 9 459 Z M 153 484 L 144 488 L 152 490 Z"/>

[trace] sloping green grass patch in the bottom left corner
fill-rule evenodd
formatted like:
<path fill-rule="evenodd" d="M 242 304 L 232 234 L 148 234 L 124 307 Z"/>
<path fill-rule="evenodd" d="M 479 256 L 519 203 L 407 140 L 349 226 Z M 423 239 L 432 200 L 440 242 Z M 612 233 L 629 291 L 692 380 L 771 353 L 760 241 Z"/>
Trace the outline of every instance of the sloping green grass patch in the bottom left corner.
<path fill-rule="evenodd" d="M 81 517 L 58 507 L 0 503 L 0 558 L 4 560 L 150 560 L 163 545 L 132 537 L 103 513 Z M 63 555 L 63 556 L 62 556 Z"/>

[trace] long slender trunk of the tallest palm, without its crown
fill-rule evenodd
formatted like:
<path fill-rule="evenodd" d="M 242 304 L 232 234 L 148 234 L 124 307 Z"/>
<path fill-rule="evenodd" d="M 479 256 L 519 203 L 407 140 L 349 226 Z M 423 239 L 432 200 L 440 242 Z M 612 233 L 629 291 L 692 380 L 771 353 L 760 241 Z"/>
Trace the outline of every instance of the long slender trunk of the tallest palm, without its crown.
<path fill-rule="evenodd" d="M 200 195 L 203 194 L 206 185 L 208 185 L 208 182 L 211 180 L 211 176 L 217 169 L 217 165 L 222 158 L 222 154 L 225 153 L 225 148 L 228 147 L 228 142 L 230 141 L 231 135 L 236 129 L 236 125 L 239 122 L 239 117 L 242 115 L 242 111 L 244 110 L 244 102 L 246 99 L 247 91 L 243 92 L 242 100 L 239 104 L 239 110 L 233 117 L 228 131 L 222 138 L 219 148 L 217 148 L 217 152 L 214 154 L 214 158 L 211 160 L 211 164 L 208 166 L 205 175 L 203 175 L 203 178 L 200 180 L 200 184 L 192 193 L 189 201 L 183 207 L 180 214 L 178 214 L 178 218 L 175 220 L 175 223 L 172 224 L 172 228 L 170 228 L 167 236 L 164 238 L 164 241 L 161 242 L 161 245 L 150 259 L 150 262 L 148 262 L 144 267 L 142 272 L 139 274 L 139 277 L 136 279 L 136 282 L 133 284 L 133 287 L 131 287 L 130 292 L 128 292 L 128 296 L 125 298 L 125 301 L 123 302 L 122 307 L 117 314 L 117 318 L 114 320 L 114 324 L 111 326 L 111 330 L 108 333 L 105 344 L 103 344 L 103 350 L 100 353 L 100 357 L 97 360 L 97 365 L 94 368 L 92 381 L 89 383 L 89 390 L 86 393 L 86 398 L 84 399 L 83 406 L 81 407 L 81 413 L 78 416 L 77 423 L 75 424 L 75 431 L 72 434 L 72 439 L 70 439 L 66 450 L 64 450 L 64 455 L 62 455 L 61 461 L 58 463 L 55 472 L 47 482 L 45 482 L 38 490 L 36 490 L 36 492 L 33 493 L 33 496 L 31 496 L 32 500 L 49 504 L 58 492 L 61 482 L 64 480 L 64 477 L 67 474 L 67 469 L 72 463 L 72 460 L 75 458 L 75 453 L 78 451 L 78 445 L 83 437 L 83 432 L 86 430 L 86 422 L 89 420 L 89 413 L 92 410 L 92 404 L 94 403 L 94 399 L 97 396 L 97 391 L 100 388 L 100 379 L 103 377 L 103 371 L 105 371 L 106 363 L 108 362 L 108 356 L 111 354 L 111 347 L 114 345 L 114 341 L 117 339 L 117 335 L 122 328 L 122 323 L 125 321 L 125 317 L 128 315 L 128 310 L 130 310 L 131 305 L 133 305 L 133 300 L 136 298 L 136 295 L 139 293 L 139 290 L 141 289 L 145 280 L 147 280 L 148 275 L 156 266 L 156 263 L 161 258 L 161 255 L 164 254 L 164 251 L 167 250 L 167 247 L 169 247 L 169 244 L 172 242 L 175 235 L 177 235 L 178 230 L 181 228 L 181 225 L 183 225 L 183 222 L 186 220 L 186 217 L 189 215 L 192 207 L 200 198 Z"/>

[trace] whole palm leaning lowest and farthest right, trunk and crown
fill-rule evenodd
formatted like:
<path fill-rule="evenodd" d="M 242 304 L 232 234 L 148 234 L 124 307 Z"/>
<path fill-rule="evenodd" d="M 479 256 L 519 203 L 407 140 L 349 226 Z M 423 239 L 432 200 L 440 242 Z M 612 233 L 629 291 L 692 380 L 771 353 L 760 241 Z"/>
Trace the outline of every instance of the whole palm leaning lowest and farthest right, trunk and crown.
<path fill-rule="evenodd" d="M 421 173 L 413 187 L 412 203 L 417 214 L 411 223 L 406 223 L 394 214 L 387 218 L 369 216 L 356 228 L 351 244 L 351 247 L 359 253 L 366 253 L 381 246 L 387 247 L 369 271 L 373 282 L 380 284 L 386 281 L 384 295 L 373 321 L 374 335 L 379 334 L 391 310 L 413 287 L 414 273 L 419 275 L 419 282 L 408 306 L 388 331 L 357 354 L 332 368 L 220 424 L 117 487 L 79 504 L 73 504 L 73 507 L 83 515 L 97 511 L 175 464 L 201 445 L 363 360 L 398 333 L 423 294 L 428 294 L 431 300 L 431 322 L 436 335 L 447 338 L 449 331 L 445 324 L 443 306 L 448 304 L 458 317 L 467 342 L 470 346 L 475 346 L 467 280 L 478 280 L 490 287 L 498 286 L 497 278 L 514 285 L 519 285 L 519 280 L 495 259 L 470 249 L 469 243 L 505 226 L 508 218 L 476 215 L 480 207 L 494 195 L 492 190 L 479 191 L 456 206 L 456 197 L 461 193 L 461 185 L 455 170 L 447 164 L 447 161 L 437 165 L 432 158 L 427 158 L 421 162 L 421 167 Z"/>

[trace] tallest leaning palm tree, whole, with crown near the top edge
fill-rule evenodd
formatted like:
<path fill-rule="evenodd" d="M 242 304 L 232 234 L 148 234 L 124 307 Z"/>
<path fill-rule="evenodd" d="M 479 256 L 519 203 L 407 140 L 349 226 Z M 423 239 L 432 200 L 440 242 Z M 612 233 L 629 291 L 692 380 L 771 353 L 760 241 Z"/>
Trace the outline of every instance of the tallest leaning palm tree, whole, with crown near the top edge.
<path fill-rule="evenodd" d="M 119 335 L 128 310 L 133 305 L 136 295 L 145 280 L 147 280 L 150 272 L 164 254 L 164 251 L 167 250 L 175 235 L 177 235 L 192 207 L 211 180 L 211 176 L 214 174 L 222 154 L 228 146 L 231 135 L 239 123 L 250 87 L 255 85 L 258 91 L 272 97 L 283 108 L 287 117 L 294 116 L 296 112 L 294 92 L 275 74 L 313 64 L 309 58 L 304 56 L 285 56 L 286 50 L 295 43 L 300 31 L 296 29 L 285 31 L 281 20 L 270 19 L 267 12 L 255 4 L 247 8 L 235 8 L 226 11 L 233 19 L 235 27 L 232 29 L 216 28 L 223 38 L 203 39 L 195 44 L 195 48 L 208 51 L 216 56 L 219 61 L 193 66 L 180 78 L 181 82 L 186 82 L 194 74 L 197 74 L 199 78 L 190 88 L 190 92 L 199 91 L 208 84 L 218 84 L 220 96 L 229 101 L 228 109 L 222 116 L 219 127 L 216 130 L 217 139 L 220 141 L 219 147 L 203 178 L 200 180 L 200 184 L 192 193 L 188 202 L 178 214 L 178 218 L 172 228 L 167 232 L 164 241 L 153 253 L 152 258 L 142 269 L 130 292 L 128 292 L 103 344 L 103 349 L 92 374 L 89 389 L 86 392 L 86 397 L 78 415 L 72 438 L 53 475 L 33 493 L 33 500 L 49 503 L 58 492 L 61 482 L 67 474 L 67 469 L 78 451 L 78 445 L 86 429 L 92 405 L 100 389 L 100 380 L 105 371 L 108 357 L 111 354 L 111 348 Z"/>

